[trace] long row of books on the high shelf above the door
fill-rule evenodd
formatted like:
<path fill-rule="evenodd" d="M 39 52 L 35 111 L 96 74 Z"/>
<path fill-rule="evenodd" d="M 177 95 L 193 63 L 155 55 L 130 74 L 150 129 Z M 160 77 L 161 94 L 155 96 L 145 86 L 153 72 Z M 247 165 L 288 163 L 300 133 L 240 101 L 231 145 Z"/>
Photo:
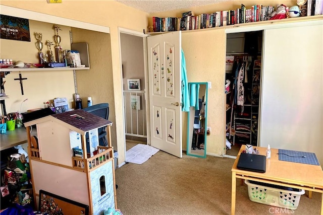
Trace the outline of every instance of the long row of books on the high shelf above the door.
<path fill-rule="evenodd" d="M 275 7 L 273 6 L 254 5 L 251 6 L 250 9 L 246 9 L 246 7 L 241 4 L 241 8 L 236 10 L 218 11 L 211 14 L 200 14 L 198 16 L 194 16 L 190 11 L 182 13 L 181 18 L 152 17 L 153 32 L 196 30 L 240 23 L 266 21 L 271 19 L 271 14 L 274 11 Z M 308 11 L 310 10 L 307 10 L 307 12 Z M 307 16 L 311 16 L 311 13 L 307 14 Z"/>

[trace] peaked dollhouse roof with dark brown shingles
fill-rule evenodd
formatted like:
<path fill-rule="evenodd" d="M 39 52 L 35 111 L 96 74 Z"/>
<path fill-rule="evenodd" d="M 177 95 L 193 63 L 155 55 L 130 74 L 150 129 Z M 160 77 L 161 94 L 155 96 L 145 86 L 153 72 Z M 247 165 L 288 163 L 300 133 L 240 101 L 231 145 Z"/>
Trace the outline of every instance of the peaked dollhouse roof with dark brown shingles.
<path fill-rule="evenodd" d="M 80 134 L 85 135 L 87 131 L 95 128 L 100 128 L 109 124 L 111 121 L 103 119 L 92 113 L 88 113 L 84 110 L 73 110 L 65 113 L 58 113 L 49 116 L 45 116 L 39 119 L 35 119 L 25 123 L 25 126 L 31 126 L 52 120 L 54 122 L 60 123 L 65 127 L 70 128 Z"/>

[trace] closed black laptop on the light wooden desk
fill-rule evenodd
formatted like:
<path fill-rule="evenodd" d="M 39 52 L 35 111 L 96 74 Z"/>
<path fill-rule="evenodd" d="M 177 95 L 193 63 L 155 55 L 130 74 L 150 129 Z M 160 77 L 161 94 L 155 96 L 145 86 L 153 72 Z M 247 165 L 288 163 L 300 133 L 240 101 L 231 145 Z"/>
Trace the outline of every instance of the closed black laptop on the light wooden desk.
<path fill-rule="evenodd" d="M 266 157 L 263 155 L 241 153 L 237 169 L 252 172 L 266 172 Z"/>

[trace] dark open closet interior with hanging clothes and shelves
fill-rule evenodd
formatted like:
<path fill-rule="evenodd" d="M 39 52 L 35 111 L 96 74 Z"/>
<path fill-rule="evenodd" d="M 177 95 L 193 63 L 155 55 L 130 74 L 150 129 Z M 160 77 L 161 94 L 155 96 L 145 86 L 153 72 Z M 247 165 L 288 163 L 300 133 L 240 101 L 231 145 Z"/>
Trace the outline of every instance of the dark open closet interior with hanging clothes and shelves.
<path fill-rule="evenodd" d="M 258 145 L 262 31 L 227 34 L 226 154 Z"/>

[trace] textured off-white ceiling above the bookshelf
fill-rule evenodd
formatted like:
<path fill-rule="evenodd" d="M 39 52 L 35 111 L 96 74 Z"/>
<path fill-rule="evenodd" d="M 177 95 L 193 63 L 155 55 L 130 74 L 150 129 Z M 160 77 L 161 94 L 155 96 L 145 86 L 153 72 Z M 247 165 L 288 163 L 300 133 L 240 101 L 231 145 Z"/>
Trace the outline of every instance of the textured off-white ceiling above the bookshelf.
<path fill-rule="evenodd" d="M 182 8 L 212 5 L 230 0 L 116 0 L 146 13 L 166 12 Z"/>

